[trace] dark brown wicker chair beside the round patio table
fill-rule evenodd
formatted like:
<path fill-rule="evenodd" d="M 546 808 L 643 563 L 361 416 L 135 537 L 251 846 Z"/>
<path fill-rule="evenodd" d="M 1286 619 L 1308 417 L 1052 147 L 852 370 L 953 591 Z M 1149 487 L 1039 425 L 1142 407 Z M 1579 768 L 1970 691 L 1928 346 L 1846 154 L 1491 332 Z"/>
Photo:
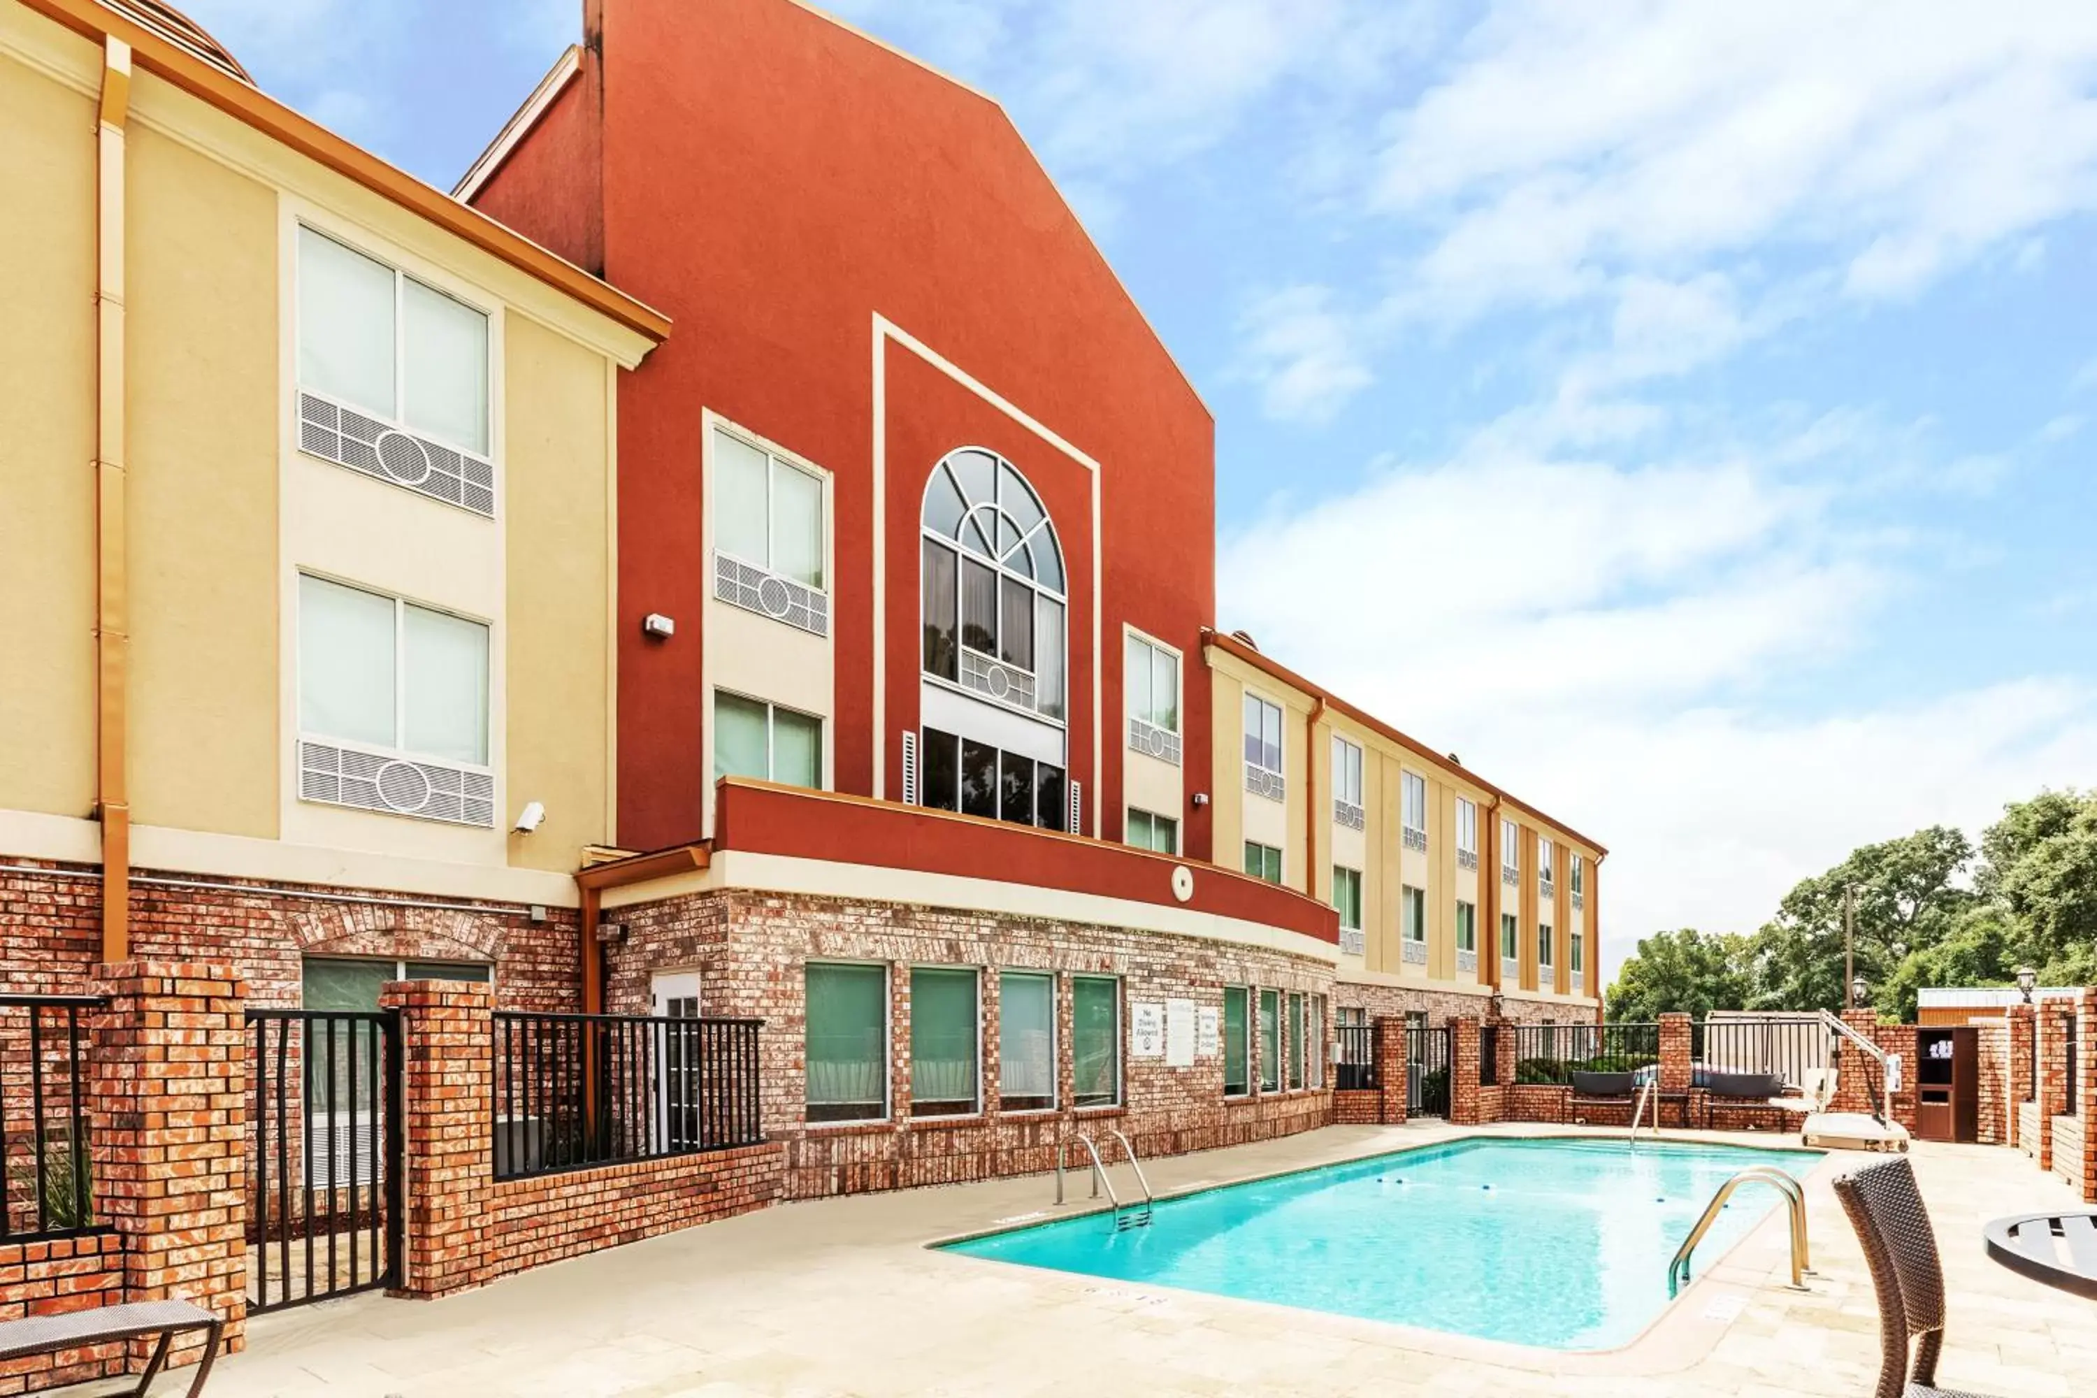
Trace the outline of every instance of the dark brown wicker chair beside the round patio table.
<path fill-rule="evenodd" d="M 1938 1235 L 1915 1188 L 1906 1157 L 1864 1165 L 1835 1180 L 1835 1197 L 1850 1214 L 1879 1291 L 1879 1388 L 1875 1398 L 1982 1398 L 1931 1388 L 1944 1348 L 1944 1264 Z M 1915 1344 L 1910 1364 L 1908 1341 Z M 1912 1381 L 1910 1381 L 1912 1375 Z"/>

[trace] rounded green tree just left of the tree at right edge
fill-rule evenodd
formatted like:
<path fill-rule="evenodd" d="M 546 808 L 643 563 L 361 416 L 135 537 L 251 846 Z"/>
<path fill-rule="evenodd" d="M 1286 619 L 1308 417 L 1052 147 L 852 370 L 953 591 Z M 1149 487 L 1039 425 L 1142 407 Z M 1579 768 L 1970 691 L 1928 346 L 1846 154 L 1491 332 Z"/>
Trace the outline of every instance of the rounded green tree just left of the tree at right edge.
<path fill-rule="evenodd" d="M 1915 952 L 1938 945 L 1973 905 L 1957 878 L 1973 845 L 1948 826 L 1864 845 L 1776 905 L 1751 941 L 1753 1008 L 1841 1010 L 1843 895 L 1856 897 L 1856 968 L 1883 991 Z"/>

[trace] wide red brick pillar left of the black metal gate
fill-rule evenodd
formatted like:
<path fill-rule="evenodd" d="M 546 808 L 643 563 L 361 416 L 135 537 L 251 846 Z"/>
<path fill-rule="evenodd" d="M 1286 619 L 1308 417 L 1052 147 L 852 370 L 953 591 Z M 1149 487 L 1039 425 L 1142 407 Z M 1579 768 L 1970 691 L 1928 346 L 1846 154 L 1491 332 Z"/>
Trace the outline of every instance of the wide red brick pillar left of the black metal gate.
<path fill-rule="evenodd" d="M 96 979 L 92 1167 L 103 1222 L 124 1241 L 124 1299 L 185 1299 L 247 1325 L 247 987 L 231 966 L 120 962 Z M 201 1337 L 170 1362 L 195 1362 Z M 130 1346 L 143 1367 L 147 1341 Z"/>

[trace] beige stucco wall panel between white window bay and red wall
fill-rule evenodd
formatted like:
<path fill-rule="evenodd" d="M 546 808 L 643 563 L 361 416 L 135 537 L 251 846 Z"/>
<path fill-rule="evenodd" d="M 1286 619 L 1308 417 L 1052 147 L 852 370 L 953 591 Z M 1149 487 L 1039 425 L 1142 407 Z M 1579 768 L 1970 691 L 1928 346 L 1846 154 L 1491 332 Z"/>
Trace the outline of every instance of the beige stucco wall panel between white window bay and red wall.
<path fill-rule="evenodd" d="M 510 861 L 572 870 L 583 845 L 612 838 L 612 384 L 572 340 L 520 314 L 505 327 L 510 801 L 547 811 L 535 834 L 510 836 Z"/>

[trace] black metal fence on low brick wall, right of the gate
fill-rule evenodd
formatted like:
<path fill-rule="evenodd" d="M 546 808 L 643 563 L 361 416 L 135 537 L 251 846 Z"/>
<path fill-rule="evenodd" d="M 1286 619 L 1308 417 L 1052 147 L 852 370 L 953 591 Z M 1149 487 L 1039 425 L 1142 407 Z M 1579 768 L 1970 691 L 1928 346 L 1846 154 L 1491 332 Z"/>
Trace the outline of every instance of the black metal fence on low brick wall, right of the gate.
<path fill-rule="evenodd" d="M 495 1014 L 495 1178 L 763 1140 L 757 1019 Z"/>

